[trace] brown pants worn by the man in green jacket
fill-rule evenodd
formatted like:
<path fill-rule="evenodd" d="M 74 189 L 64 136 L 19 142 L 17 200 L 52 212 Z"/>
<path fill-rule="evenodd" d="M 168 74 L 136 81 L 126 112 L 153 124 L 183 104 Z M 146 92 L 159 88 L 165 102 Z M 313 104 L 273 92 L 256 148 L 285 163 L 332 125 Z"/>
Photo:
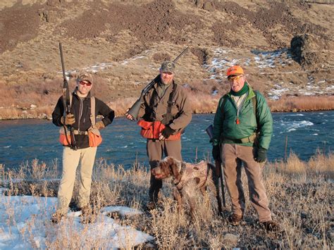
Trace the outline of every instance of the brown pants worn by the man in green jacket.
<path fill-rule="evenodd" d="M 266 189 L 262 182 L 261 165 L 254 161 L 253 151 L 252 146 L 221 144 L 225 183 L 232 201 L 232 213 L 243 215 L 245 212 L 245 195 L 241 182 L 241 168 L 244 162 L 249 198 L 262 223 L 271 220 L 271 211 L 268 208 Z"/>

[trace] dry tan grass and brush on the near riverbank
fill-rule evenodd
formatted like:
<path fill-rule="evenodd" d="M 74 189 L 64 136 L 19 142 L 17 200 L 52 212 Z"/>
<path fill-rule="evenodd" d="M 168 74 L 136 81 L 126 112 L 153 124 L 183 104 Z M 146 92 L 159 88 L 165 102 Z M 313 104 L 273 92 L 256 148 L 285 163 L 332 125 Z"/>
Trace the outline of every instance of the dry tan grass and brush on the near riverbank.
<path fill-rule="evenodd" d="M 59 178 L 58 162 L 51 167 L 37 160 L 21 165 L 20 169 L 4 170 L 0 168 L 1 186 L 7 187 L 8 196 L 30 194 L 35 196 L 55 196 Z M 130 218 L 117 218 L 121 225 L 142 230 L 153 235 L 155 240 L 150 244 L 161 249 L 173 248 L 290 248 L 290 249 L 330 249 L 333 247 L 333 177 L 334 154 L 323 155 L 320 152 L 309 161 L 300 161 L 295 154 L 287 158 L 287 163 L 267 163 L 264 168 L 264 184 L 270 199 L 273 218 L 277 220 L 283 232 L 267 233 L 258 223 L 254 209 L 249 206 L 248 194 L 247 212 L 242 225 L 234 227 L 227 223 L 223 216 L 216 213 L 213 197 L 207 195 L 200 201 L 202 209 L 197 211 L 197 218 L 191 220 L 189 213 L 175 212 L 175 201 L 171 197 L 171 183 L 165 183 L 161 194 L 159 208 Z M 22 180 L 22 181 L 18 181 Z M 242 175 L 245 190 L 247 179 Z M 76 183 L 74 198 L 78 194 Z M 91 202 L 97 208 L 112 205 L 124 205 L 144 209 L 147 202 L 149 174 L 140 165 L 125 170 L 119 165 L 108 165 L 103 159 L 97 160 L 94 168 Z M 227 195 L 227 194 L 226 194 Z M 228 197 L 228 195 L 227 195 Z M 209 204 L 213 210 L 207 209 Z M 227 199 L 230 206 L 230 200 Z M 6 208 L 8 218 L 13 211 Z M 13 222 L 15 218 L 11 218 Z M 9 222 L 8 222 L 9 223 Z M 33 223 L 33 222 L 32 222 Z M 72 222 L 73 223 L 73 222 Z M 66 232 L 62 237 L 59 233 L 48 235 L 49 248 L 78 247 L 85 242 L 87 248 L 103 248 L 106 239 L 78 235 L 71 221 L 62 225 L 58 232 Z M 52 231 L 50 231 L 52 232 Z M 52 239 L 52 240 L 51 240 Z M 29 237 L 27 237 L 29 240 Z M 81 242 L 81 243 L 80 243 Z M 82 246 L 82 245 L 81 245 Z M 144 244 L 140 248 L 147 247 Z M 34 247 L 32 245 L 32 247 Z"/>

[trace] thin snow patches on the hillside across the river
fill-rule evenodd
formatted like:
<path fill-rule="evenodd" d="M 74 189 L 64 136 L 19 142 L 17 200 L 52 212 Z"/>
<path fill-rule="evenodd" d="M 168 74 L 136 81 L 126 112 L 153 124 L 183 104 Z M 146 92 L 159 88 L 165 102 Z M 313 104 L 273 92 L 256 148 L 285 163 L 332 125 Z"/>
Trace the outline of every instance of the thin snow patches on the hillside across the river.
<path fill-rule="evenodd" d="M 204 69 L 206 69 L 209 74 L 209 79 L 221 80 L 225 78 L 225 71 L 232 65 L 255 65 L 259 68 L 259 73 L 264 75 L 276 74 L 271 72 L 271 69 L 279 67 L 285 67 L 292 65 L 292 55 L 290 50 L 278 49 L 275 51 L 250 51 L 250 56 L 242 56 L 238 58 L 233 57 L 233 50 L 222 49 L 221 47 L 215 48 L 212 51 L 211 61 L 204 64 Z M 152 64 L 147 64 L 147 58 L 153 56 L 156 53 L 156 49 L 150 49 L 142 51 L 142 53 L 132 56 L 131 58 L 126 58 L 118 63 L 97 63 L 96 65 L 89 65 L 81 70 L 85 70 L 91 73 L 97 73 L 99 71 L 106 70 L 107 68 L 113 67 L 123 67 L 128 68 L 134 65 L 147 65 L 147 68 L 153 70 L 159 70 L 159 67 Z M 72 75 L 73 73 L 78 73 L 79 70 L 68 70 L 66 75 Z M 306 73 L 307 71 L 291 71 L 283 70 L 280 74 L 295 74 L 295 73 Z M 61 72 L 59 72 L 61 73 Z M 268 91 L 268 96 L 271 99 L 280 99 L 280 96 L 284 94 L 299 94 L 299 95 L 314 95 L 314 94 L 324 94 L 328 92 L 334 92 L 334 85 L 326 86 L 328 82 L 333 80 L 319 79 L 315 80 L 314 77 L 309 76 L 309 81 L 306 83 L 307 87 L 299 88 L 299 86 L 291 85 L 289 82 L 279 83 L 277 82 L 273 89 Z M 135 84 L 141 84 L 142 82 L 135 82 Z M 289 85 L 290 84 L 290 85 Z M 285 87 L 278 87 L 279 85 L 285 85 Z"/>

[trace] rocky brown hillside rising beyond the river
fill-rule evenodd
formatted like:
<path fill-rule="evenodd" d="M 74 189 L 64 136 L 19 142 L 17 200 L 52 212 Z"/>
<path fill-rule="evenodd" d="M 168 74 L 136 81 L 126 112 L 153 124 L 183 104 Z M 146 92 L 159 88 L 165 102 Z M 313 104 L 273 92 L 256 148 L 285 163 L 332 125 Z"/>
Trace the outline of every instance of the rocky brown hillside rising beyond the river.
<path fill-rule="evenodd" d="M 221 96 L 238 63 L 269 99 L 333 95 L 333 14 L 333 1 L 2 0 L 0 113 L 54 106 L 58 42 L 68 74 L 94 73 L 105 101 L 134 101 L 187 46 L 176 79 L 195 94 Z"/>

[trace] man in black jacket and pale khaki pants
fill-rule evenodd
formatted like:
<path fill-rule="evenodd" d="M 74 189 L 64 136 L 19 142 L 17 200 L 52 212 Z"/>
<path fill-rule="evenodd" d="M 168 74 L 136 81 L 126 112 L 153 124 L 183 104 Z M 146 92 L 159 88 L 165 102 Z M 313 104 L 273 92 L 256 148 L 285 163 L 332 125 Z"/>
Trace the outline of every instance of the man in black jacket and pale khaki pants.
<path fill-rule="evenodd" d="M 92 75 L 81 73 L 76 79 L 77 87 L 71 96 L 70 113 L 64 116 L 63 96 L 58 99 L 56 108 L 52 113 L 52 122 L 58 127 L 72 127 L 75 148 L 71 145 L 63 148 L 63 173 L 58 189 L 57 211 L 52 216 L 52 221 L 58 223 L 68 212 L 68 205 L 72 199 L 75 182 L 75 171 L 80 163 L 80 185 L 78 196 L 78 208 L 82 215 L 89 215 L 92 208 L 89 206 L 90 187 L 92 183 L 92 170 L 97 153 L 97 146 L 89 146 L 88 131 L 94 129 L 98 132 L 101 128 L 109 125 L 114 118 L 114 112 L 103 101 L 93 98 L 90 90 L 93 86 Z M 94 103 L 93 103 L 94 102 Z M 92 112 L 92 106 L 95 110 Z M 91 115 L 103 115 L 104 118 L 95 123 Z M 95 124 L 94 124 L 95 123 Z M 62 128 L 63 129 L 63 128 Z M 68 138 L 70 136 L 68 135 Z"/>

